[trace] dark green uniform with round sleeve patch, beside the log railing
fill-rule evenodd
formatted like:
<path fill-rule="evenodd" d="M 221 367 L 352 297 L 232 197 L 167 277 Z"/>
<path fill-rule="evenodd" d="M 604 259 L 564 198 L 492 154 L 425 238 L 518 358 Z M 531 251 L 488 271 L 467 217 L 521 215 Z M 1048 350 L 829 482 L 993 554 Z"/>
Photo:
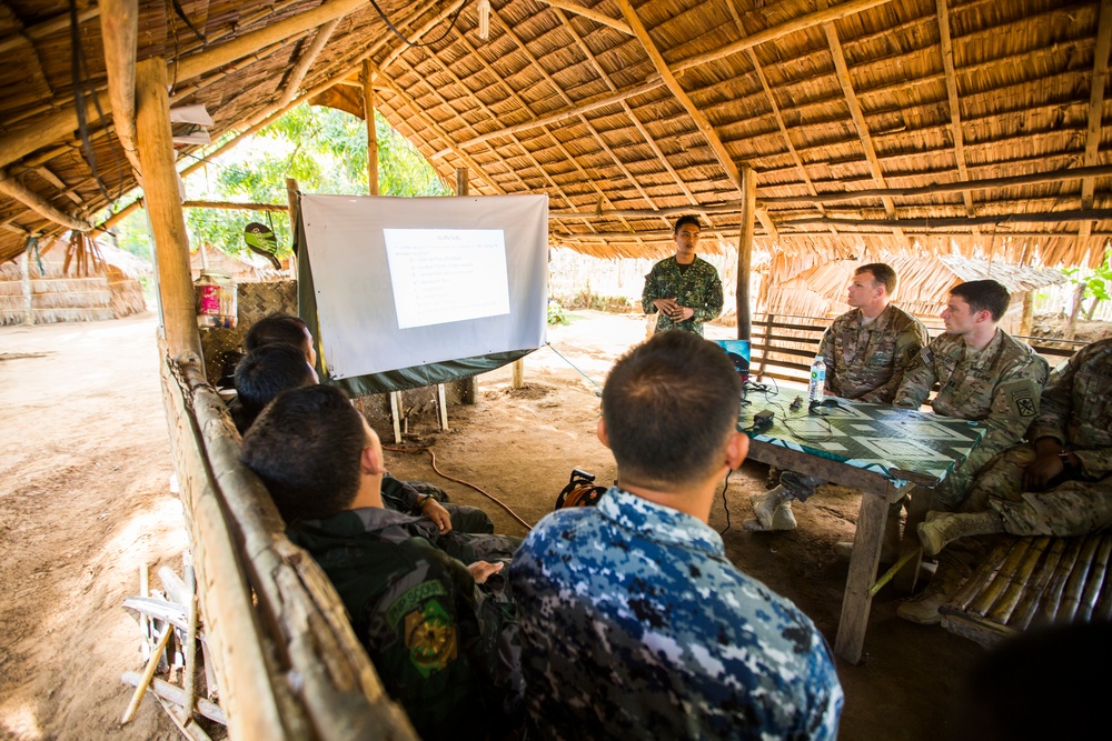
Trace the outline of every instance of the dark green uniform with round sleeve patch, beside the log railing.
<path fill-rule="evenodd" d="M 423 739 L 494 738 L 520 722 L 516 611 L 503 574 L 477 587 L 460 560 L 507 561 L 519 539 L 448 533 L 380 508 L 287 532 L 339 593 L 386 692 Z"/>

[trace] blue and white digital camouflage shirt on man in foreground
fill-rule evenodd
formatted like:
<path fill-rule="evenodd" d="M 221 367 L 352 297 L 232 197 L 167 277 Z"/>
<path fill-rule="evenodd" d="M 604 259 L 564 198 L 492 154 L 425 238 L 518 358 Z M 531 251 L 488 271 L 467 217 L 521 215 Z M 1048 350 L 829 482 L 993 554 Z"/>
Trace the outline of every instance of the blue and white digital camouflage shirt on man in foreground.
<path fill-rule="evenodd" d="M 530 737 L 831 739 L 830 649 L 706 523 L 612 488 L 514 557 Z"/>

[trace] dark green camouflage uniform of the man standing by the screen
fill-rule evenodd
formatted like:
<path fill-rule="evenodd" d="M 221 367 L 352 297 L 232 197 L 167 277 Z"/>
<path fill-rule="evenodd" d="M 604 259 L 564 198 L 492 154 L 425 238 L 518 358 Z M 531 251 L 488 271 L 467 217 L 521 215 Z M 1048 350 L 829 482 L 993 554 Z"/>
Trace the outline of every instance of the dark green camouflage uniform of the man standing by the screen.
<path fill-rule="evenodd" d="M 675 256 L 665 258 L 645 276 L 641 306 L 646 314 L 657 313 L 653 306 L 657 299 L 675 299 L 679 306 L 695 310 L 694 317 L 682 322 L 661 314 L 656 318 L 657 332 L 682 329 L 702 337 L 703 323 L 722 313 L 722 279 L 714 266 L 701 258 L 689 266 L 681 266 Z"/>

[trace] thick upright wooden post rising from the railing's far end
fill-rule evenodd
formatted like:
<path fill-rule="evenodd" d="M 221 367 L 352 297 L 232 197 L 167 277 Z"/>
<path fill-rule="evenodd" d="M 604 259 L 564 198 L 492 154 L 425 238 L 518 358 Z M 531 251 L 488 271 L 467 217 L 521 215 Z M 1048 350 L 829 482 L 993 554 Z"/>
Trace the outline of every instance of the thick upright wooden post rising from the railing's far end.
<path fill-rule="evenodd" d="M 155 237 L 162 334 L 170 357 L 180 358 L 187 352 L 200 356 L 201 343 L 189 272 L 189 240 L 173 167 L 166 81 L 166 62 L 161 58 L 151 57 L 136 66 L 136 133 L 147 216 Z"/>

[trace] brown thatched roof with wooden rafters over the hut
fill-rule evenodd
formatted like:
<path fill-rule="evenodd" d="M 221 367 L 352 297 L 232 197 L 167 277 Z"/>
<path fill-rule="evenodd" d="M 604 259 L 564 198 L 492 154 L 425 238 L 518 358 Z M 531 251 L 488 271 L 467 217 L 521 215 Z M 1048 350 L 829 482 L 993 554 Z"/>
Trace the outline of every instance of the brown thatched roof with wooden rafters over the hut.
<path fill-rule="evenodd" d="M 168 61 L 171 103 L 203 104 L 214 141 L 298 100 L 361 111 L 366 60 L 444 178 L 548 193 L 553 242 L 589 254 L 662 254 L 685 212 L 735 241 L 746 168 L 771 252 L 1095 264 L 1112 234 L 1109 2 L 493 0 L 484 40 L 474 2 L 379 0 L 421 47 L 366 0 L 138 6 L 138 59 Z M 136 184 L 103 94 L 112 17 L 78 7 L 71 33 L 67 2 L 0 4 L 0 260 Z M 103 190 L 78 87 L 101 91 Z"/>

